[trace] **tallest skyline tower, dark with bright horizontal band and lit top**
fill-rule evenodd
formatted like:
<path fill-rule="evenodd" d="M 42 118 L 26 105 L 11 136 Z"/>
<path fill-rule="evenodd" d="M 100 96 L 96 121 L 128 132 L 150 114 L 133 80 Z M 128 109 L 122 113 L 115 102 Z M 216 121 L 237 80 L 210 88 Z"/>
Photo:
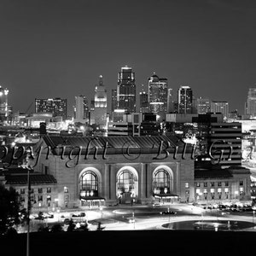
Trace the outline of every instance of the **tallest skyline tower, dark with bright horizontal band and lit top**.
<path fill-rule="evenodd" d="M 136 112 L 135 73 L 131 67 L 122 67 L 118 74 L 117 103 L 126 113 Z"/>

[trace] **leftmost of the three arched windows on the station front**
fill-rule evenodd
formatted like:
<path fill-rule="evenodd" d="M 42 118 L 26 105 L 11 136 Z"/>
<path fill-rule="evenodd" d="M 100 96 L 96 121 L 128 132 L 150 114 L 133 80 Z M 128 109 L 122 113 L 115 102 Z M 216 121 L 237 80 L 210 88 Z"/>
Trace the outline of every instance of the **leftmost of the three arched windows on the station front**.
<path fill-rule="evenodd" d="M 98 195 L 98 177 L 94 172 L 84 172 L 80 177 L 79 186 L 82 197 Z"/>

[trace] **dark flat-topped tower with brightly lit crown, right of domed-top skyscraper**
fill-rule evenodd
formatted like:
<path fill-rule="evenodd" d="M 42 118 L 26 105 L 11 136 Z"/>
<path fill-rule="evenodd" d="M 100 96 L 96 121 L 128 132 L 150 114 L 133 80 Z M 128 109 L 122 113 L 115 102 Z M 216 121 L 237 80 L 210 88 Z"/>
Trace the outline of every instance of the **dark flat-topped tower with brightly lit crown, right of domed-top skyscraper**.
<path fill-rule="evenodd" d="M 193 113 L 193 91 L 189 86 L 180 86 L 177 90 L 177 112 Z"/>

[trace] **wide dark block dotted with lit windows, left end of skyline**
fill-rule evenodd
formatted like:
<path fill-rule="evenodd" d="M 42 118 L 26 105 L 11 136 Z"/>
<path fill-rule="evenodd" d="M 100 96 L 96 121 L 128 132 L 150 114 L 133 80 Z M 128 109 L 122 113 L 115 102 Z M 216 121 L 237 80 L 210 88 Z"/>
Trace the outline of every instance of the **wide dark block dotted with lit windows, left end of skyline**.
<path fill-rule="evenodd" d="M 67 119 L 67 99 L 35 99 L 35 112 L 52 113 L 54 117 Z"/>

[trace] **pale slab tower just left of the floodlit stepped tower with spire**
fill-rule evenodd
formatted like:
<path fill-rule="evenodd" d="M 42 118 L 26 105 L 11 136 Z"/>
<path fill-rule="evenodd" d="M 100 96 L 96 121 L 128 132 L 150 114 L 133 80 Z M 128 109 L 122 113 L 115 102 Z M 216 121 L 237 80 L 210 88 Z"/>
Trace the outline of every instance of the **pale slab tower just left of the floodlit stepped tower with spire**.
<path fill-rule="evenodd" d="M 89 119 L 89 105 L 86 96 L 75 96 L 75 115 L 76 122 L 84 123 Z"/>

